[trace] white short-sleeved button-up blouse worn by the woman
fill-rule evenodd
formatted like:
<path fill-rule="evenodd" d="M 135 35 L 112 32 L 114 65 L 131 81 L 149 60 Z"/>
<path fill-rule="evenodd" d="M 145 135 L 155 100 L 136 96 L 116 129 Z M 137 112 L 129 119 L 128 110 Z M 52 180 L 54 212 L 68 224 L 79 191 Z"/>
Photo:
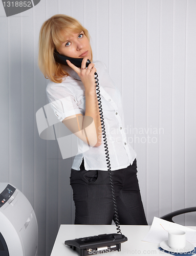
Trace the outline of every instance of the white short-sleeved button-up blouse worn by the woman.
<path fill-rule="evenodd" d="M 136 158 L 132 146 L 127 143 L 124 132 L 124 117 L 119 90 L 115 87 L 103 62 L 94 61 L 99 79 L 99 90 L 105 124 L 105 133 L 110 157 L 111 170 L 126 168 Z M 61 83 L 49 81 L 47 96 L 55 115 L 60 121 L 75 114 L 85 115 L 85 91 L 77 73 L 67 68 L 68 77 Z M 103 141 L 103 139 L 102 139 Z M 102 143 L 92 147 L 78 139 L 81 154 L 75 156 L 72 168 L 80 170 L 79 166 L 84 158 L 86 170 L 107 170 L 105 148 Z"/>

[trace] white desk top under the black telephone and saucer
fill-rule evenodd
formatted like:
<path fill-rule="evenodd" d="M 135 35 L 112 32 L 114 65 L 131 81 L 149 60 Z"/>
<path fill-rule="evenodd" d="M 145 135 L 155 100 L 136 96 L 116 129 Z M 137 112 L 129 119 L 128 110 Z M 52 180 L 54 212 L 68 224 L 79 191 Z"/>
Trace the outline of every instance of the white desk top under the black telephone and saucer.
<path fill-rule="evenodd" d="M 143 242 L 150 229 L 150 226 L 120 226 L 122 234 L 128 241 L 121 244 L 121 251 L 102 253 L 103 255 L 127 255 L 127 254 L 146 254 L 161 255 L 166 254 L 158 249 L 159 244 Z M 190 227 L 196 230 L 196 227 Z M 115 225 L 61 225 L 54 243 L 51 256 L 77 256 L 69 246 L 64 245 L 64 241 L 81 237 L 96 236 L 103 233 L 117 233 Z"/>

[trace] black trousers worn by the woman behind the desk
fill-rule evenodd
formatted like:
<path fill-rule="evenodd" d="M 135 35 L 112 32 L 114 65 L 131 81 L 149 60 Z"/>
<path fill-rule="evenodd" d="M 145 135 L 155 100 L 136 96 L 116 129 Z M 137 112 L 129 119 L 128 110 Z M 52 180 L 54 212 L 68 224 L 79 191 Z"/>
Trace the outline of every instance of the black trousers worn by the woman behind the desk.
<path fill-rule="evenodd" d="M 126 168 L 113 170 L 120 225 L 147 225 L 137 179 L 136 159 Z M 75 203 L 75 224 L 109 225 L 114 220 L 114 203 L 108 172 L 71 169 L 70 184 Z"/>

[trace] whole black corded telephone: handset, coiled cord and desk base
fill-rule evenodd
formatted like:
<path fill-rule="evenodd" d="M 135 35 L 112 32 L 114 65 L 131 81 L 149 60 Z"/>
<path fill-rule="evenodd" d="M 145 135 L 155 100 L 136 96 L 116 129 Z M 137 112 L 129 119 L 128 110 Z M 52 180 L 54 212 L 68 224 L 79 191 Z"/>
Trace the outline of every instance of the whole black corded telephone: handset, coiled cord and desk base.
<path fill-rule="evenodd" d="M 76 67 L 81 67 L 82 58 L 71 58 L 64 56 L 62 54 L 59 54 L 57 51 L 54 51 L 54 58 L 56 62 L 67 65 L 67 59 L 70 60 Z M 88 59 L 86 62 L 86 67 L 89 66 L 91 61 Z M 100 97 L 100 91 L 99 91 L 99 80 L 98 80 L 98 74 L 95 73 L 95 82 L 96 82 L 96 91 L 97 91 L 97 99 L 98 99 L 98 105 L 99 105 L 99 113 L 100 113 L 100 119 L 101 119 L 101 128 L 102 128 L 102 134 L 103 134 L 103 141 L 104 141 L 104 148 L 105 148 L 105 157 L 107 162 L 107 170 L 108 170 L 108 177 L 111 184 L 112 189 L 112 197 L 114 202 L 114 216 L 115 216 L 115 224 L 117 226 L 118 234 L 99 234 L 98 236 L 94 237 L 85 237 L 85 238 L 79 238 L 79 239 L 73 239 L 73 240 L 67 240 L 64 242 L 64 244 L 69 245 L 73 250 L 76 250 L 80 256 L 84 255 L 90 255 L 92 252 L 99 253 L 102 252 L 108 252 L 111 250 L 118 250 L 121 249 L 121 243 L 127 241 L 127 238 L 121 233 L 120 226 L 119 226 L 119 219 L 118 219 L 118 210 L 117 210 L 117 204 L 116 204 L 116 197 L 115 197 L 115 191 L 114 191 L 114 183 L 111 173 L 111 164 L 110 164 L 110 157 L 108 154 L 108 147 L 107 147 L 107 139 L 105 135 L 105 125 L 104 125 L 104 119 L 103 119 L 103 112 L 102 112 L 102 105 L 101 105 L 101 97 Z M 119 234 L 120 233 L 120 234 Z M 95 253 L 93 253 L 95 254 Z"/>

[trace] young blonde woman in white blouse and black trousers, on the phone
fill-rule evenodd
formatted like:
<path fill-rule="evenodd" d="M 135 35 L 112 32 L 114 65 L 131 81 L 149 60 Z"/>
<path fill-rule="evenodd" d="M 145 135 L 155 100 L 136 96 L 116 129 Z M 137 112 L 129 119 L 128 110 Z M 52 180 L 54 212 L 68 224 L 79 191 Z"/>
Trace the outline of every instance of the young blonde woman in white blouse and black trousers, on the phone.
<path fill-rule="evenodd" d="M 83 58 L 81 68 L 69 60 L 68 66 L 57 63 L 55 52 Z M 43 23 L 39 35 L 39 68 L 50 79 L 47 96 L 58 119 L 79 138 L 81 150 L 74 158 L 70 177 L 75 224 L 111 224 L 114 219 L 96 94 L 94 74 L 97 72 L 119 223 L 147 225 L 137 179 L 136 153 L 123 131 L 120 92 L 105 65 L 94 61 L 86 68 L 88 59 L 93 59 L 89 33 L 76 19 L 57 14 Z M 72 122 L 76 119 L 77 122 Z"/>

